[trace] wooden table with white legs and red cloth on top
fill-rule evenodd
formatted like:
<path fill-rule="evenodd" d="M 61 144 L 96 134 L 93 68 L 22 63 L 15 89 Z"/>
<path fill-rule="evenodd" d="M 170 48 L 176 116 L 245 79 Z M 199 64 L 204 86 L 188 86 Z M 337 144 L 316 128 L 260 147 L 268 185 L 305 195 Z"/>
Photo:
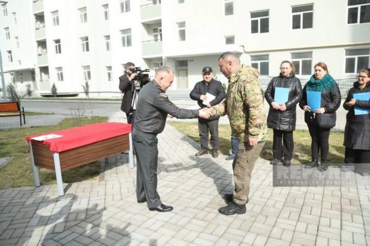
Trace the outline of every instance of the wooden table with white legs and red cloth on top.
<path fill-rule="evenodd" d="M 131 124 L 117 122 L 90 124 L 28 136 L 26 140 L 30 146 L 35 186 L 40 186 L 37 166 L 53 170 L 60 196 L 64 195 L 61 171 L 104 158 L 108 161 L 107 157 L 127 150 L 129 167 L 134 168 Z"/>

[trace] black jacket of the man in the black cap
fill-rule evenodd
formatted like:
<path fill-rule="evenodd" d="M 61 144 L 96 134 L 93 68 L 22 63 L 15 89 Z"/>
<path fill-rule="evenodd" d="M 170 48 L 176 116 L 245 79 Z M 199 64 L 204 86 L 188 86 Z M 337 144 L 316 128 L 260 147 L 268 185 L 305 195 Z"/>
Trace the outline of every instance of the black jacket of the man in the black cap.
<path fill-rule="evenodd" d="M 211 102 L 209 102 L 211 106 L 218 105 L 226 97 L 226 93 L 222 87 L 221 82 L 212 79 L 208 83 L 208 85 L 204 82 L 204 80 L 197 82 L 194 86 L 194 89 L 190 92 L 190 98 L 192 100 L 197 100 L 199 107 L 201 107 L 202 109 L 203 107 L 207 107 L 207 105 L 203 104 L 203 101 L 201 100 L 201 95 L 206 95 L 207 92 L 216 97 Z M 219 116 L 211 117 L 210 120 L 218 118 Z"/>

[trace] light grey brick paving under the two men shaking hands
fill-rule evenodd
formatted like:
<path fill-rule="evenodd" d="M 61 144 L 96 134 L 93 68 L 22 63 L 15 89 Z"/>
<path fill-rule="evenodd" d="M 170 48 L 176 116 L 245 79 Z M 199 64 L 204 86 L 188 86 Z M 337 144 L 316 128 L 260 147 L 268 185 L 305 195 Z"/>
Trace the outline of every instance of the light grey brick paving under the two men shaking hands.
<path fill-rule="evenodd" d="M 169 124 L 158 138 L 158 192 L 173 211 L 137 204 L 136 168 L 122 154 L 102 163 L 98 181 L 65 184 L 63 197 L 56 185 L 0 190 L 0 245 L 370 244 L 370 177 L 351 172 L 349 187 L 273 187 L 271 165 L 259 160 L 247 213 L 224 216 L 217 209 L 233 189 L 231 162 L 195 157 L 198 144 Z"/>

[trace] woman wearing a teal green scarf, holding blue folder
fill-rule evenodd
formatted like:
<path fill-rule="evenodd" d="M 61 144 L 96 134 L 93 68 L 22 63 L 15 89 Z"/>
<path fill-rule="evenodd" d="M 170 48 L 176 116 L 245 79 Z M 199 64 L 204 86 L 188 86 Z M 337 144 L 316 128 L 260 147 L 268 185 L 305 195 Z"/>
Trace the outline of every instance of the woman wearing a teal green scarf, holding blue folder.
<path fill-rule="evenodd" d="M 324 62 L 317 63 L 314 70 L 314 74 L 303 88 L 303 96 L 299 106 L 305 111 L 305 122 L 312 139 L 312 160 L 306 167 L 319 167 L 319 150 L 321 150 L 321 167 L 319 170 L 325 171 L 328 167 L 330 129 L 335 126 L 335 111 L 340 106 L 341 96 L 337 82 L 328 73 Z M 317 97 L 317 95 L 320 96 L 320 106 L 312 109 L 309 104 L 314 101 L 314 97 Z M 311 106 L 313 104 L 314 102 Z"/>

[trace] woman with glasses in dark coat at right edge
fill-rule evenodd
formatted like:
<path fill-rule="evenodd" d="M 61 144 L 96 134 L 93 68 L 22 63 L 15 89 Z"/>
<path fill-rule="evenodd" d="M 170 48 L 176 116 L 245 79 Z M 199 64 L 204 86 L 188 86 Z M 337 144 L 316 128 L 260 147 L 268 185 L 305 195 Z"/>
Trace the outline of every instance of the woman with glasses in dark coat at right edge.
<path fill-rule="evenodd" d="M 370 163 L 370 115 L 355 115 L 354 107 L 370 109 L 369 100 L 354 99 L 354 94 L 370 93 L 370 69 L 361 69 L 357 75 L 357 82 L 349 90 L 343 103 L 348 110 L 346 128 L 344 129 L 344 163 Z"/>

